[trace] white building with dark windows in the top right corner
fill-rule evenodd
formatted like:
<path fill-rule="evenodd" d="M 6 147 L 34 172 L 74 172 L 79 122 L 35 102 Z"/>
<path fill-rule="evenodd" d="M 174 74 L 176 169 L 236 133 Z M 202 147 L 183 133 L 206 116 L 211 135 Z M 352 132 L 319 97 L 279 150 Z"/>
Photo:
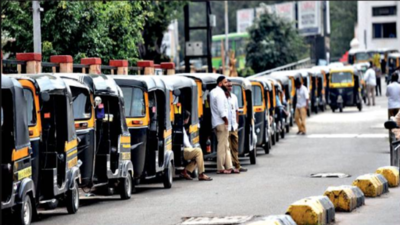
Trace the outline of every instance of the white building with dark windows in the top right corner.
<path fill-rule="evenodd" d="M 400 51 L 400 1 L 358 1 L 357 9 L 360 49 Z"/>

